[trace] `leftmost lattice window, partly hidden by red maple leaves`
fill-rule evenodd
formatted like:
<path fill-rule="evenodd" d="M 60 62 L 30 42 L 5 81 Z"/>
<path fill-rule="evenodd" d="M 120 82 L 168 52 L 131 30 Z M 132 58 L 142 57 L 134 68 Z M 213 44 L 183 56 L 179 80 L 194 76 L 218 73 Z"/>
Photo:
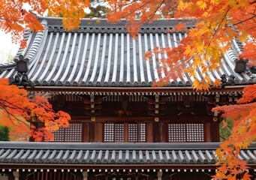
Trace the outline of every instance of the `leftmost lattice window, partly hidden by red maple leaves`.
<path fill-rule="evenodd" d="M 53 131 L 54 139 L 57 142 L 82 142 L 83 124 L 71 123 L 68 127 L 60 127 Z"/>

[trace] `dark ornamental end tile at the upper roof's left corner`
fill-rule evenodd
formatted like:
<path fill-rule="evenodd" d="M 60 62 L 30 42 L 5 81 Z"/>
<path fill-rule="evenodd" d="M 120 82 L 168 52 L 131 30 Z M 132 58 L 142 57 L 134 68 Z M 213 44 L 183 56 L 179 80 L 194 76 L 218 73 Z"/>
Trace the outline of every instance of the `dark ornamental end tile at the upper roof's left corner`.
<path fill-rule="evenodd" d="M 17 74 L 14 77 L 9 78 L 9 83 L 17 86 L 23 86 L 24 88 L 27 86 L 34 88 L 35 85 L 29 82 L 29 77 L 27 74 L 29 71 L 29 58 L 24 58 L 23 55 L 19 55 L 19 59 L 14 58 L 14 62 L 16 62 Z"/>

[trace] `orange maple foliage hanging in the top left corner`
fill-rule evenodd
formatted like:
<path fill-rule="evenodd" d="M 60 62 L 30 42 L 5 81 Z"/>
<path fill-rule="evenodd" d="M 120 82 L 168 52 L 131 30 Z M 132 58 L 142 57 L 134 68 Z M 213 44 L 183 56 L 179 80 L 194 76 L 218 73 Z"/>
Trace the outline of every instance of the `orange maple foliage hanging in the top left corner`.
<path fill-rule="evenodd" d="M 44 29 L 35 15 L 25 9 L 28 5 L 41 16 L 46 12 L 52 17 L 62 14 L 62 23 L 70 30 L 78 28 L 80 18 L 85 16 L 84 9 L 89 7 L 89 0 L 0 0 L 0 30 L 11 32 L 13 42 L 20 43 L 23 47 L 26 46 L 26 40 L 23 38 L 25 28 L 32 31 Z"/>

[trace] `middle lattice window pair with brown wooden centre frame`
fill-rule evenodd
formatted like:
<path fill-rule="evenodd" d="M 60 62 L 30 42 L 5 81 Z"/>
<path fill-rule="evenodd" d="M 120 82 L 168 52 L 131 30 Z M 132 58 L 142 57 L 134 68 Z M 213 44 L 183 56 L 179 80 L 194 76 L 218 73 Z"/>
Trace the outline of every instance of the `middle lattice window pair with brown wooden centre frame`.
<path fill-rule="evenodd" d="M 146 142 L 146 124 L 106 123 L 104 142 Z"/>

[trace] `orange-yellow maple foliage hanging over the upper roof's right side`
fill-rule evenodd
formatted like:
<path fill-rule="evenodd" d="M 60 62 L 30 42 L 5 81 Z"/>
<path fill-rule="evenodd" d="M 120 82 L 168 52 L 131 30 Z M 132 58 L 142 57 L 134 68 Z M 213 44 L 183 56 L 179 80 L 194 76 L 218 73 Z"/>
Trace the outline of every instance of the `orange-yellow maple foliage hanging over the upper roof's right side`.
<path fill-rule="evenodd" d="M 152 51 L 156 54 L 166 54 L 166 58 L 161 58 L 163 65 L 161 69 L 167 72 L 167 77 L 164 77 L 160 83 L 155 83 L 156 86 L 162 86 L 165 81 L 170 80 L 170 77 L 173 79 L 182 76 L 184 69 L 194 77 L 193 87 L 197 91 L 208 91 L 210 86 L 220 86 L 220 80 L 212 82 L 207 73 L 221 66 L 221 58 L 224 52 L 230 49 L 230 42 L 234 38 L 241 40 L 242 43 L 249 40 L 245 46 L 245 52 L 239 55 L 240 58 L 256 60 L 256 1 L 112 0 L 110 5 L 113 7 L 113 12 L 108 16 L 108 20 L 116 23 L 121 18 L 125 18 L 131 23 L 127 29 L 134 36 L 139 32 L 139 27 L 143 23 L 162 16 L 171 17 L 168 12 L 174 12 L 176 18 L 194 20 L 194 28 L 187 29 L 179 24 L 172 29 L 187 32 L 187 36 L 180 41 L 179 46 Z M 138 13 L 140 13 L 140 20 L 136 20 Z M 146 58 L 149 56 L 150 53 Z M 196 74 L 198 70 L 205 75 L 204 79 L 198 79 Z"/>

